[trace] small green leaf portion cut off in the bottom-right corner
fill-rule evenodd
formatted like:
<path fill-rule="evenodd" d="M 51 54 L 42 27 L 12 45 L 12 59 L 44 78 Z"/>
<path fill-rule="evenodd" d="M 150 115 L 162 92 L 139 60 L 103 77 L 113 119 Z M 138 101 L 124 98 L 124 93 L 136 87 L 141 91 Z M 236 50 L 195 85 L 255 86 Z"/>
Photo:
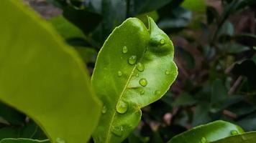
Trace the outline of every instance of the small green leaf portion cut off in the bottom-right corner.
<path fill-rule="evenodd" d="M 216 142 L 211 143 L 252 143 L 256 142 L 256 132 L 245 132 L 243 134 L 237 134 L 224 139 L 219 139 Z"/>

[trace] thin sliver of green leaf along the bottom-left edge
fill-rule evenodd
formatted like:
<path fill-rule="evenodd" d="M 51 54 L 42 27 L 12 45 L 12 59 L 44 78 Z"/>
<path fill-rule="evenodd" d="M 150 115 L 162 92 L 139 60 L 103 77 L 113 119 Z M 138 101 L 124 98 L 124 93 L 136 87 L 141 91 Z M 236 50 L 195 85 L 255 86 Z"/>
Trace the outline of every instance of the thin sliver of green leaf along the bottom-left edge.
<path fill-rule="evenodd" d="M 3 139 L 0 143 L 50 143 L 48 139 L 37 140 L 37 139 Z"/>

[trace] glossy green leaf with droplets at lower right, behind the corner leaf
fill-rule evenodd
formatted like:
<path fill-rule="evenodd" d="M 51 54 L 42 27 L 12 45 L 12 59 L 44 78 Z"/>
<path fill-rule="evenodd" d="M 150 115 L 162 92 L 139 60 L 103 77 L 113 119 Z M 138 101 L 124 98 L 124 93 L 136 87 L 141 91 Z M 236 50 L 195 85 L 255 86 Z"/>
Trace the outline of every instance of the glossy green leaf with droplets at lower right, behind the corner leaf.
<path fill-rule="evenodd" d="M 243 133 L 244 131 L 235 124 L 224 121 L 211 122 L 198 127 L 194 127 L 182 134 L 170 139 L 168 143 L 183 143 L 183 142 L 213 142 L 224 137 L 229 137 L 232 134 Z"/>

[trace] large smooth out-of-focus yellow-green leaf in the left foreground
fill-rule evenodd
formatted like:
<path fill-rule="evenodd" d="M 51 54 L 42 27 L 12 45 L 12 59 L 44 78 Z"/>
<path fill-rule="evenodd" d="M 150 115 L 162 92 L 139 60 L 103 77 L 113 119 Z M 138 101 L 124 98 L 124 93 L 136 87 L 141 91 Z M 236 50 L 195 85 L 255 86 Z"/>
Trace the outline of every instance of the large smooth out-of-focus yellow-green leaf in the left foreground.
<path fill-rule="evenodd" d="M 86 142 L 100 106 L 83 61 L 20 1 L 1 1 L 0 19 L 0 100 L 34 119 L 52 142 Z"/>

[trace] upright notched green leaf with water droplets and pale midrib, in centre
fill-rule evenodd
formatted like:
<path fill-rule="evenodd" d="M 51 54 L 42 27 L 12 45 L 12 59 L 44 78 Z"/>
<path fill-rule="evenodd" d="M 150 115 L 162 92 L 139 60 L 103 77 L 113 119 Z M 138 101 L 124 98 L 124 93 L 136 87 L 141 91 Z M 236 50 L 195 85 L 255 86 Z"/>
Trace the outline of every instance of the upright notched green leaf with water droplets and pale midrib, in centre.
<path fill-rule="evenodd" d="M 122 142 L 140 122 L 140 109 L 168 91 L 178 74 L 173 50 L 151 18 L 149 30 L 136 18 L 114 29 L 93 71 L 92 85 L 104 102 L 95 142 Z"/>

